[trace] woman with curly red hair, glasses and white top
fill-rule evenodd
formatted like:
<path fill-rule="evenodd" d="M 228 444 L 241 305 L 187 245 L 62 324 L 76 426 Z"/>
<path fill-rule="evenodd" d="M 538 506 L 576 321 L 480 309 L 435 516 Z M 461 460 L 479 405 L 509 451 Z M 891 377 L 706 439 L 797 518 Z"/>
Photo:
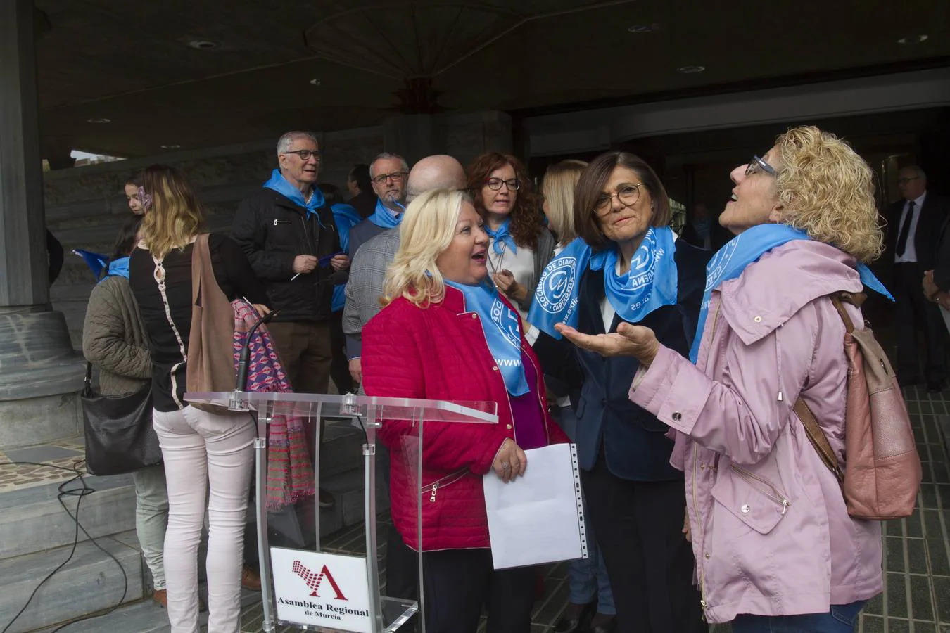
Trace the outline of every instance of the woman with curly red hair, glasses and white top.
<path fill-rule="evenodd" d="M 468 167 L 468 189 L 485 220 L 491 279 L 525 316 L 554 255 L 554 237 L 544 228 L 524 165 L 510 154 L 487 152 Z"/>

